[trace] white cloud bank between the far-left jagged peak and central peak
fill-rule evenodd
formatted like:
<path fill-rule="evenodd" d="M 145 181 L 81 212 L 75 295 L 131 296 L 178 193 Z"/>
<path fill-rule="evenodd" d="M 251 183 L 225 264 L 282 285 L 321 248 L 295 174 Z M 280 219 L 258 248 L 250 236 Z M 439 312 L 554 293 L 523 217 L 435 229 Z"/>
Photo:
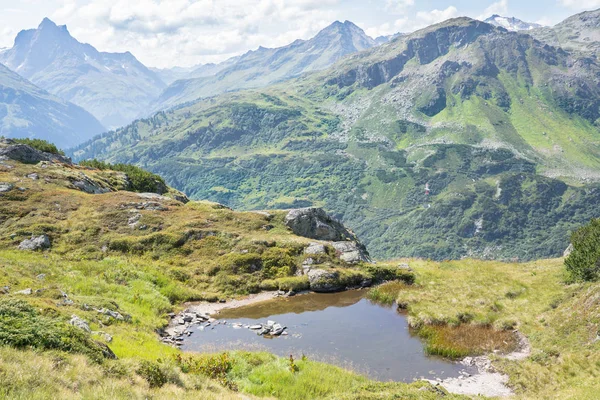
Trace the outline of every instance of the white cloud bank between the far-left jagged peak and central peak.
<path fill-rule="evenodd" d="M 409 0 L 410 1 L 410 0 Z M 341 0 L 61 0 L 51 17 L 102 51 L 152 66 L 221 61 L 259 45 L 309 38 L 338 17 Z M 337 10 L 339 11 L 339 10 Z"/>

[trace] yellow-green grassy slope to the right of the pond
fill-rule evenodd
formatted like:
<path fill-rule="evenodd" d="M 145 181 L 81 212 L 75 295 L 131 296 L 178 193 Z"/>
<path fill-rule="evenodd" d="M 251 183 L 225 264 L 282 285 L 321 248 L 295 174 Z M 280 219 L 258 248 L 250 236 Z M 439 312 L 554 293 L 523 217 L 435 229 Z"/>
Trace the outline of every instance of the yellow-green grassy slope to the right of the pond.
<path fill-rule="evenodd" d="M 471 321 L 467 325 L 514 326 L 529 338 L 531 356 L 495 358 L 494 365 L 509 374 L 518 398 L 597 397 L 600 285 L 564 284 L 562 259 L 526 264 L 413 260 L 410 265 L 417 272 L 415 286 L 389 291 L 408 307 L 412 326 L 460 325 L 465 319 Z M 441 336 L 442 346 L 456 346 Z"/>

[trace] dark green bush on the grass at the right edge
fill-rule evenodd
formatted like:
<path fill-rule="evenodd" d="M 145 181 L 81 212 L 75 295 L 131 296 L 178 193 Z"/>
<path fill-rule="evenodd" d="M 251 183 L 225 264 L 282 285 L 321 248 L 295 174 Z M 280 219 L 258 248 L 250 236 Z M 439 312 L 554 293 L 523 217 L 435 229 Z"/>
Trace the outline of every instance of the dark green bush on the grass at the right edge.
<path fill-rule="evenodd" d="M 574 281 L 600 279 L 600 219 L 592 220 L 571 235 L 573 251 L 565 267 Z"/>

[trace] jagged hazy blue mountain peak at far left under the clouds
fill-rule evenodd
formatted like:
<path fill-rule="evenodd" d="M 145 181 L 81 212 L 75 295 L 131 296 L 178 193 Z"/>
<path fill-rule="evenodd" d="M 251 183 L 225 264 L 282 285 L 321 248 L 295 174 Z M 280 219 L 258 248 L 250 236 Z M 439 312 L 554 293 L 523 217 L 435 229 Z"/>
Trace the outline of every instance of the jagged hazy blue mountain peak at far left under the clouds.
<path fill-rule="evenodd" d="M 85 108 L 107 128 L 135 119 L 165 87 L 131 53 L 99 52 L 47 18 L 37 29 L 19 32 L 0 63 Z"/>

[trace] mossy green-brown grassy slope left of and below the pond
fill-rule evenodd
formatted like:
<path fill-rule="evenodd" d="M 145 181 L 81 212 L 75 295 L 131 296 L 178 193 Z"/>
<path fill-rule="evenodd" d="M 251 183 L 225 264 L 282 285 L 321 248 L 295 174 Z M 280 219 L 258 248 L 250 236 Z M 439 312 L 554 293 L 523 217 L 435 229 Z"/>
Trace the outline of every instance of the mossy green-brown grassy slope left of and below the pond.
<path fill-rule="evenodd" d="M 255 292 L 265 282 L 273 289 L 277 282 L 303 281 L 288 275 L 302 259 L 294 249 L 310 240 L 283 227 L 284 213 L 274 214 L 270 221 L 274 228 L 267 232 L 262 229 L 268 222 L 264 215 L 168 199 L 159 200 L 168 210 L 139 211 L 146 229 L 134 229 L 127 223 L 136 211 L 127 208 L 147 199 L 125 191 L 90 195 L 70 184 L 85 173 L 91 181 L 114 188 L 122 175 L 77 166 L 9 163 L 14 168 L 0 172 L 0 181 L 15 182 L 21 189 L 2 194 L 0 287 L 10 287 L 10 294 L 0 295 L 0 306 L 24 300 L 34 307 L 36 318 L 45 318 L 52 326 L 64 326 L 75 314 L 97 332 L 92 334 L 94 340 L 106 341 L 104 333 L 112 337 L 108 344 L 119 359 L 94 361 L 82 354 L 30 349 L 28 327 L 37 319 L 19 314 L 17 322 L 5 322 L 10 320 L 0 315 L 0 324 L 10 323 L 16 330 L 2 336 L 6 341 L 0 347 L 0 396 L 221 399 L 239 398 L 236 391 L 242 391 L 289 399 L 435 398 L 437 392 L 428 384 L 376 383 L 310 360 L 298 360 L 299 371 L 292 373 L 288 361 L 269 354 L 231 354 L 226 377 L 187 370 L 176 357 L 180 352 L 161 344 L 155 333 L 167 323 L 166 314 L 181 309 L 186 300 Z M 32 172 L 39 174 L 38 180 L 25 177 Z M 16 250 L 23 238 L 42 233 L 52 240 L 50 251 Z M 185 243 L 182 233 L 189 237 Z M 250 250 L 247 256 L 239 252 L 243 249 Z M 246 257 L 264 263 L 262 270 L 244 272 L 250 262 Z M 363 279 L 369 274 L 360 266 L 357 270 L 343 266 L 334 256 L 325 258 L 344 276 Z M 26 288 L 34 293 L 16 293 Z M 65 304 L 62 293 L 73 303 Z M 118 321 L 94 310 L 99 308 L 131 318 Z M 1 307 L 0 311 L 4 312 Z M 6 347 L 11 344 L 20 349 Z M 218 357 L 185 355 L 201 365 L 213 365 Z M 144 360 L 160 371 L 166 381 L 162 387 L 150 387 L 144 380 L 153 376 L 139 372 Z M 315 376 L 320 377 L 318 384 Z"/>

